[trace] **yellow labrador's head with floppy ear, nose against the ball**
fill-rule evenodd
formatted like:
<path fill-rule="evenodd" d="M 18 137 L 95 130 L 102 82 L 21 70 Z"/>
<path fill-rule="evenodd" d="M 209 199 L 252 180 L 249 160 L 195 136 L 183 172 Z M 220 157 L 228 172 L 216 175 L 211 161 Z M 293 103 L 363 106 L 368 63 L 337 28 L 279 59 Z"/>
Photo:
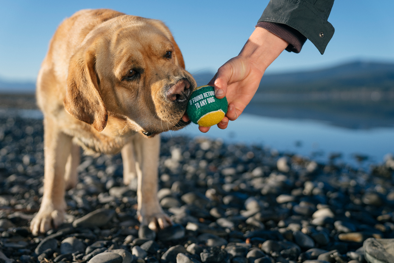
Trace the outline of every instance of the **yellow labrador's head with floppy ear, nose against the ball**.
<path fill-rule="evenodd" d="M 109 116 L 151 137 L 178 130 L 196 87 L 160 21 L 122 15 L 89 32 L 71 57 L 65 109 L 102 131 Z"/>

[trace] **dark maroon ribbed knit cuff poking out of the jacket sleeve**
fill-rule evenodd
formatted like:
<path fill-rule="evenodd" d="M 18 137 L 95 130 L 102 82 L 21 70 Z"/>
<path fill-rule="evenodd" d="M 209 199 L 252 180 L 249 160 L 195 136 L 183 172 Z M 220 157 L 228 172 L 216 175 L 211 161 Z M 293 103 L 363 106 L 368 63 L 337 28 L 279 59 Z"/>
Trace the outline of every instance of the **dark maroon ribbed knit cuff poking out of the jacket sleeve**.
<path fill-rule="evenodd" d="M 262 27 L 289 43 L 286 47 L 286 50 L 289 52 L 299 53 L 305 41 L 307 41 L 303 34 L 286 24 L 259 22 L 256 24 L 256 27 Z"/>

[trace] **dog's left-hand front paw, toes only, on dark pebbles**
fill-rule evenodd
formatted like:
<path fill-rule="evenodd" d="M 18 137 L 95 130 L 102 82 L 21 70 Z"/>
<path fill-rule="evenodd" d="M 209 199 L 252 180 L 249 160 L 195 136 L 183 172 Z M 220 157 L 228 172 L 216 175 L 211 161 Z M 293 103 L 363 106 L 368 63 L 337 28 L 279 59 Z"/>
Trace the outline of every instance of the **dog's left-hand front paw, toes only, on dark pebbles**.
<path fill-rule="evenodd" d="M 52 207 L 43 207 L 32 219 L 30 231 L 37 236 L 39 233 L 46 233 L 51 228 L 57 228 L 63 224 L 65 209 L 53 209 Z"/>

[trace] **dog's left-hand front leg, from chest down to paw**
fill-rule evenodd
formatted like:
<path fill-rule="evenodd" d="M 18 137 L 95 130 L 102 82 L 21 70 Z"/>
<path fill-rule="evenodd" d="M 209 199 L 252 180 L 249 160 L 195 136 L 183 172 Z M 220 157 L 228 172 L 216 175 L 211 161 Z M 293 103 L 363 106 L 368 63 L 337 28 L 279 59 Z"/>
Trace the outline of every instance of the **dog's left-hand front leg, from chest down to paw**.
<path fill-rule="evenodd" d="M 41 207 L 30 224 L 33 235 L 63 223 L 66 202 L 65 166 L 71 154 L 71 137 L 61 132 L 54 120 L 44 119 L 44 194 Z"/>

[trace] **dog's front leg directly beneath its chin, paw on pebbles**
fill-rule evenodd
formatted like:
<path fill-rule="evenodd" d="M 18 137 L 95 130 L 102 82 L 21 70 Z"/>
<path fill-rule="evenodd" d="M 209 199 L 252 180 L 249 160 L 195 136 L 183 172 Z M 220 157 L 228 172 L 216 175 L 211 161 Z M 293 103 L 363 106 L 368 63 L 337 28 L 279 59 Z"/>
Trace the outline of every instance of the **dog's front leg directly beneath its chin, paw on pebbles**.
<path fill-rule="evenodd" d="M 172 225 L 157 198 L 160 136 L 135 139 L 138 175 L 138 216 L 142 225 L 158 231 Z M 139 172 L 141 170 L 141 172 Z"/>

